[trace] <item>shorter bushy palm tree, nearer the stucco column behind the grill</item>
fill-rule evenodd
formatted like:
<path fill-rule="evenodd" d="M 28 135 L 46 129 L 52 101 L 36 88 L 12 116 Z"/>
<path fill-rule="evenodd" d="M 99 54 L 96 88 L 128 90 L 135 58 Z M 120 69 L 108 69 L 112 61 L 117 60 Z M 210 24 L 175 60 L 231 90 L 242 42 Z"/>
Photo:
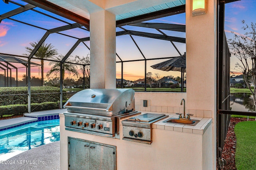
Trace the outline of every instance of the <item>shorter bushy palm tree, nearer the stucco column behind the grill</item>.
<path fill-rule="evenodd" d="M 46 76 L 49 77 L 51 74 L 54 74 L 54 76 L 58 76 L 60 74 L 60 61 L 64 58 L 63 55 L 58 55 L 58 57 L 54 56 L 52 59 L 55 61 L 50 61 L 49 66 L 53 65 L 52 68 L 47 72 Z M 75 60 L 71 59 L 66 59 L 66 62 L 68 63 L 63 63 L 62 66 L 62 80 L 64 81 L 64 75 L 65 72 L 68 72 L 68 75 L 70 76 L 71 73 L 74 73 L 76 77 L 78 77 L 79 73 L 77 71 L 77 66 L 76 64 L 71 64 L 75 63 Z"/>

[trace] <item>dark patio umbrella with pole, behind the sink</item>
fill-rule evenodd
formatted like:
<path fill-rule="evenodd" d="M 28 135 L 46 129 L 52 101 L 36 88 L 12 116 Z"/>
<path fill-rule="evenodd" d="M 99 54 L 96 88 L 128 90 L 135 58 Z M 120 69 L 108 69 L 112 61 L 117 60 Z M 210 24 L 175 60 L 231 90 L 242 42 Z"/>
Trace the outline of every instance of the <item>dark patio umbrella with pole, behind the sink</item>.
<path fill-rule="evenodd" d="M 180 71 L 181 72 L 181 92 L 184 86 L 184 72 L 186 72 L 186 53 L 182 56 L 174 57 L 162 63 L 154 64 L 151 66 L 154 69 L 163 71 Z"/>

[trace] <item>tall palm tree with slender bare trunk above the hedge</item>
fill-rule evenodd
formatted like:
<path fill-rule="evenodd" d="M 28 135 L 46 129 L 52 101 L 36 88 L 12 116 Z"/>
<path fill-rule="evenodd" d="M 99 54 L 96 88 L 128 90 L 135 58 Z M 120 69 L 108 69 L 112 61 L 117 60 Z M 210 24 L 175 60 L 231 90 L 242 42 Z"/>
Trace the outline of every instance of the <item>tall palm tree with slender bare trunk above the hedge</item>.
<path fill-rule="evenodd" d="M 34 48 L 36 47 L 36 45 L 38 44 L 39 41 L 37 42 L 30 42 L 29 44 L 32 47 L 25 47 L 28 53 L 32 53 L 32 51 L 34 50 Z M 24 55 L 28 55 L 28 54 L 24 54 Z M 44 60 L 43 59 L 49 59 L 51 57 L 53 57 L 54 55 L 58 55 L 57 49 L 54 49 L 54 46 L 50 43 L 42 43 L 42 45 L 40 46 L 40 48 L 38 49 L 38 51 L 36 51 L 34 57 L 41 59 L 41 82 L 42 82 L 42 86 L 44 85 Z"/>

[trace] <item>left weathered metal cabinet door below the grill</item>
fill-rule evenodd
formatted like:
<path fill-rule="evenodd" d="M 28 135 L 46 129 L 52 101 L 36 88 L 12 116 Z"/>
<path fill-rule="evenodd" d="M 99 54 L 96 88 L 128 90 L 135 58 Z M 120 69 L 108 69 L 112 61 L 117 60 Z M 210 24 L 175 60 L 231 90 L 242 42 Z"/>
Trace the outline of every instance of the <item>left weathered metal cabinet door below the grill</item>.
<path fill-rule="evenodd" d="M 90 169 L 90 143 L 77 139 L 69 139 L 68 170 Z"/>

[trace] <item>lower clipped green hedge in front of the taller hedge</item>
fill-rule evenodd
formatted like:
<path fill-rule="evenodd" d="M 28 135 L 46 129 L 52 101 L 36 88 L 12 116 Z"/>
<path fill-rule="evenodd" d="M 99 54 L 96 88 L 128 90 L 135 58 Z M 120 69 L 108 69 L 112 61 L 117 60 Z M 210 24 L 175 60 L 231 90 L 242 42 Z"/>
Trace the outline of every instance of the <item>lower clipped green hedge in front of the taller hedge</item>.
<path fill-rule="evenodd" d="M 65 101 L 63 101 L 65 102 Z M 58 109 L 58 102 L 44 102 L 44 103 L 33 103 L 31 104 L 31 111 L 43 111 L 50 109 Z M 12 104 L 8 106 L 0 106 L 0 116 L 3 115 L 23 115 L 28 112 L 27 104 Z"/>

